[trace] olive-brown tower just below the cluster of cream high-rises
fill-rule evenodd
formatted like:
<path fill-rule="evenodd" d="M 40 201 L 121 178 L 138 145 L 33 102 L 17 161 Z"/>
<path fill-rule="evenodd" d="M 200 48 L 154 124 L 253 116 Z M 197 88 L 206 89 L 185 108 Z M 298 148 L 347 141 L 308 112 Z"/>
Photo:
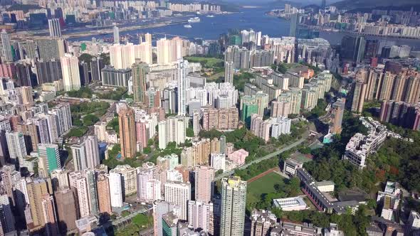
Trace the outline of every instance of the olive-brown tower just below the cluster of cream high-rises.
<path fill-rule="evenodd" d="M 135 63 L 132 65 L 132 92 L 134 94 L 134 102 L 145 104 L 147 68 L 146 63 Z"/>

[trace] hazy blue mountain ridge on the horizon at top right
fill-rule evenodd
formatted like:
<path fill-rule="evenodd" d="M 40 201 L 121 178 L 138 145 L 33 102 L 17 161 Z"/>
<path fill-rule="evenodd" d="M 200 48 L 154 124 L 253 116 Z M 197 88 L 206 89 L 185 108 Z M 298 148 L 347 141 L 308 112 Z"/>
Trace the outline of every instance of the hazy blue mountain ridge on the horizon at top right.
<path fill-rule="evenodd" d="M 374 9 L 381 6 L 416 6 L 419 5 L 419 0 L 343 0 L 337 1 L 332 6 L 338 9 Z"/>

